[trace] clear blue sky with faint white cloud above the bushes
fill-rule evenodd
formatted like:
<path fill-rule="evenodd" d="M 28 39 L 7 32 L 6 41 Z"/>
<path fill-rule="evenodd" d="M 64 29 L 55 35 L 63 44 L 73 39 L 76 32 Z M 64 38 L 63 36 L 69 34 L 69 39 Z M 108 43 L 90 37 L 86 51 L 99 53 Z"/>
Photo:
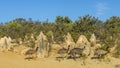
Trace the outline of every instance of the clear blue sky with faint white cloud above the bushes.
<path fill-rule="evenodd" d="M 56 16 L 72 21 L 92 15 L 102 21 L 120 16 L 120 0 L 0 0 L 0 22 L 16 18 L 54 22 Z"/>

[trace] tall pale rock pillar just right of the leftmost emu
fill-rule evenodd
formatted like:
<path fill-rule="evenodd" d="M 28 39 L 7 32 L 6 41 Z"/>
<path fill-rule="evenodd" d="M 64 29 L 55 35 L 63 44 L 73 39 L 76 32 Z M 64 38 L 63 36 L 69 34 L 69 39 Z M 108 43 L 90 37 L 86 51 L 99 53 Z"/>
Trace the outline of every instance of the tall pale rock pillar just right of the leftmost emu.
<path fill-rule="evenodd" d="M 40 32 L 39 36 L 37 37 L 36 46 L 39 47 L 37 53 L 38 57 L 44 58 L 48 56 L 50 45 L 43 32 Z"/>

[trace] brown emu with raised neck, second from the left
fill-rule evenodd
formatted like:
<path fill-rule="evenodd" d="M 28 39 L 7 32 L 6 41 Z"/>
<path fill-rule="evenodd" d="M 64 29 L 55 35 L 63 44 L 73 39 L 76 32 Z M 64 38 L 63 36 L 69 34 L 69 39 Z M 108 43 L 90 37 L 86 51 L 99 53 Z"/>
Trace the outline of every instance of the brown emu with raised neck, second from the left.
<path fill-rule="evenodd" d="M 59 57 L 56 57 L 56 60 L 58 60 L 60 62 L 60 59 L 64 59 L 67 54 L 68 54 L 68 51 L 69 51 L 69 48 L 70 48 L 70 45 L 68 46 L 68 49 L 66 48 L 62 48 L 60 50 L 58 50 L 58 54 L 60 55 Z"/>

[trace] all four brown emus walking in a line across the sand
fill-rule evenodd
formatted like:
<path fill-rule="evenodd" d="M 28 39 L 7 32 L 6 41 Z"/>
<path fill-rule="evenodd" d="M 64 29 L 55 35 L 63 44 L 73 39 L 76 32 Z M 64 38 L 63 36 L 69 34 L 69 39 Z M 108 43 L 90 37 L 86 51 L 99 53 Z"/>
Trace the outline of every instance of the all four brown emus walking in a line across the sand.
<path fill-rule="evenodd" d="M 36 47 L 36 49 L 30 49 L 28 50 L 25 55 L 32 55 L 32 54 L 37 54 L 39 47 Z M 59 54 L 58 57 L 56 57 L 56 60 L 61 61 L 61 59 L 64 58 L 68 58 L 68 59 L 74 59 L 76 60 L 77 58 L 80 58 L 83 56 L 83 51 L 85 50 L 86 46 L 84 45 L 83 48 L 73 48 L 70 49 L 70 45 L 68 46 L 68 48 L 61 48 L 57 51 L 57 54 Z M 105 54 L 107 54 L 106 51 L 102 50 L 102 49 L 98 49 L 94 52 L 94 55 L 97 56 L 97 58 L 101 58 L 103 57 Z M 26 57 L 25 59 L 34 59 L 35 57 L 33 56 L 29 56 Z M 95 58 L 95 57 L 92 57 Z"/>

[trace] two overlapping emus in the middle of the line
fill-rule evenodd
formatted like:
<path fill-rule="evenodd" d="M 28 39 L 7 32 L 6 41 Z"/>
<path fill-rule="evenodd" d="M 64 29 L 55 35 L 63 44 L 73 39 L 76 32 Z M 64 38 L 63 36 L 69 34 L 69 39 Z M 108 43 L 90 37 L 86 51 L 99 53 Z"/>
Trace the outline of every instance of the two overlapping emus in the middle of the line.
<path fill-rule="evenodd" d="M 60 55 L 59 57 L 56 57 L 57 60 L 60 61 L 60 59 L 64 59 L 64 58 L 73 58 L 74 60 L 76 60 L 76 58 L 82 56 L 83 50 L 85 49 L 85 46 L 83 48 L 73 48 L 71 50 L 70 49 L 70 45 L 68 46 L 68 49 L 62 48 L 60 50 L 58 50 L 58 54 Z"/>

